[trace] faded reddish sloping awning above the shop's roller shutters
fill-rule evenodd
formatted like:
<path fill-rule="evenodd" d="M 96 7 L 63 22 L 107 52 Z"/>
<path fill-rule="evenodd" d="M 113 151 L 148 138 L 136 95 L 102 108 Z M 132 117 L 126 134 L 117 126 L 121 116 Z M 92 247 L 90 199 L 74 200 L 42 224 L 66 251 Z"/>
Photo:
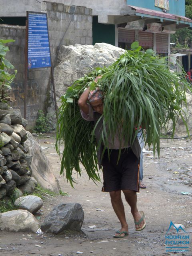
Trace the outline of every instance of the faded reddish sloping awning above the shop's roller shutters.
<path fill-rule="evenodd" d="M 174 21 L 176 24 L 187 24 L 192 27 L 192 20 L 184 16 L 174 15 L 170 13 L 159 12 L 151 9 L 141 8 L 137 6 L 128 5 L 132 10 L 135 10 L 135 15 L 147 18 L 158 18 L 161 22 L 163 20 Z"/>

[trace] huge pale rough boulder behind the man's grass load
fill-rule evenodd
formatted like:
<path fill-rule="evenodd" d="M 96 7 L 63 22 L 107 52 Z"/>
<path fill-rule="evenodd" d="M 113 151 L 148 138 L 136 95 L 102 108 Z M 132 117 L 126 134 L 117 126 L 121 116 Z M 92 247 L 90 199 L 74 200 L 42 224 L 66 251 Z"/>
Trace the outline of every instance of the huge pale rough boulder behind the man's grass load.
<path fill-rule="evenodd" d="M 93 68 L 109 66 L 123 52 L 125 50 L 122 48 L 106 43 L 96 43 L 94 46 L 87 44 L 62 45 L 58 53 L 58 65 L 54 68 L 58 106 L 60 105 L 60 97 L 75 80 L 84 76 Z M 50 120 L 50 126 L 54 126 L 56 115 L 55 108 L 51 102 L 47 118 Z"/>

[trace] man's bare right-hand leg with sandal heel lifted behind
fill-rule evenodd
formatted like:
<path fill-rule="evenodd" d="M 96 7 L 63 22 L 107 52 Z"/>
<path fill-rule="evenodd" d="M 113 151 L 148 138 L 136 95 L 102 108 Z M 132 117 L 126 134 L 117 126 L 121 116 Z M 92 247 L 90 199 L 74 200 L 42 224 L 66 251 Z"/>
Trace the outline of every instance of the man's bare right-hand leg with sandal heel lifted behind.
<path fill-rule="evenodd" d="M 136 222 L 138 222 L 141 219 L 141 214 L 138 211 L 137 208 L 137 194 L 133 190 L 123 190 L 123 193 L 125 195 L 125 199 L 128 202 L 128 204 L 131 207 L 131 213 L 133 215 L 133 218 Z M 139 225 L 135 225 L 135 228 L 141 228 L 145 223 L 145 220 L 142 220 L 142 222 Z"/>

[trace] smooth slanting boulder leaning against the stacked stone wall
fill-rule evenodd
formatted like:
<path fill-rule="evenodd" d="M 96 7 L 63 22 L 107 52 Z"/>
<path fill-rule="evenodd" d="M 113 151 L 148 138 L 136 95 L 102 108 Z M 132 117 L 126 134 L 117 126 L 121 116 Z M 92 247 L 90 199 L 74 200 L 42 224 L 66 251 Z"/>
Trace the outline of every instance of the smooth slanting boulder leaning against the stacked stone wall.
<path fill-rule="evenodd" d="M 33 156 L 30 167 L 32 168 L 32 176 L 37 180 L 42 188 L 49 189 L 59 193 L 60 187 L 58 180 L 54 176 L 52 164 L 44 154 L 42 148 L 33 138 L 32 134 L 27 131 L 28 139 L 25 144 L 29 147 L 30 155 Z"/>

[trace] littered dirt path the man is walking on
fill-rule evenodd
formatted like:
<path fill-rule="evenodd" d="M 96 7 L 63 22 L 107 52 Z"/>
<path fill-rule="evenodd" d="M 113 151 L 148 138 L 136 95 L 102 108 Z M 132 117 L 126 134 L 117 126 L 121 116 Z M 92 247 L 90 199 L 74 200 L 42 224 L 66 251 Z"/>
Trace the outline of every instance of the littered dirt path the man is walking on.
<path fill-rule="evenodd" d="M 83 232 L 66 232 L 62 235 L 1 232 L 0 256 L 72 256 L 78 255 L 77 251 L 83 252 L 82 255 L 85 256 L 173 255 L 166 252 L 165 244 L 170 221 L 174 224 L 183 224 L 187 232 L 179 231 L 177 234 L 172 228 L 170 234 L 189 236 L 190 244 L 186 245 L 189 247 L 186 250 L 189 251 L 179 252 L 178 255 L 192 256 L 192 194 L 182 194 L 192 193 L 191 140 L 161 140 L 160 159 L 153 159 L 150 152 L 144 153 L 144 183 L 147 188 L 138 194 L 138 208 L 144 210 L 147 225 L 141 232 L 134 230 L 130 208 L 123 198 L 129 224 L 129 236 L 124 239 L 113 238 L 114 231 L 120 228 L 120 223 L 112 210 L 109 194 L 101 192 L 102 184 L 96 186 L 94 182 L 88 181 L 87 175 L 83 172 L 78 178 L 74 174 L 78 184 L 75 185 L 75 189 L 71 188 L 59 175 L 60 160 L 54 150 L 54 137 L 37 140 L 52 162 L 62 191 L 67 192 L 68 196 L 48 195 L 44 200 L 43 211 L 36 217 L 41 223 L 44 216 L 57 204 L 78 202 L 85 213 Z M 93 225 L 96 227 L 89 228 Z"/>

